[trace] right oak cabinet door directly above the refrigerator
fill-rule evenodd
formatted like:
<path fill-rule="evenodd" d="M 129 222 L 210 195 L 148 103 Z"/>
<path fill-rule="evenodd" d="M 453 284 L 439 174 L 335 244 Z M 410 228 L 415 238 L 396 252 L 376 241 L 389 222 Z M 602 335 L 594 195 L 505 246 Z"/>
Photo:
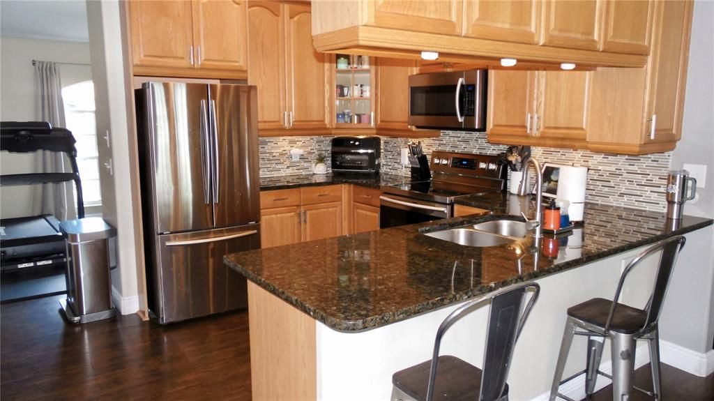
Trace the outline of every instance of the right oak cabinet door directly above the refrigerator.
<path fill-rule="evenodd" d="M 193 43 L 200 68 L 246 71 L 246 1 L 193 2 Z"/>

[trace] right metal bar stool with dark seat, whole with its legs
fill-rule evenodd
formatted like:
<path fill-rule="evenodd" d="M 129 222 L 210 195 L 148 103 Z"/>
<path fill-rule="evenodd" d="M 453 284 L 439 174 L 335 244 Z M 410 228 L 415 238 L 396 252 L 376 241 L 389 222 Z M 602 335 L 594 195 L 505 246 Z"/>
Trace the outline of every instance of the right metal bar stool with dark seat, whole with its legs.
<path fill-rule="evenodd" d="M 663 240 L 637 255 L 637 257 L 625 267 L 622 275 L 620 275 L 620 282 L 618 283 L 617 290 L 615 290 L 615 298 L 612 301 L 603 298 L 593 298 L 568 308 L 568 320 L 565 322 L 563 342 L 560 344 L 560 355 L 558 355 L 558 363 L 555 365 L 553 385 L 550 387 L 550 401 L 555 400 L 555 397 L 573 401 L 565 397 L 565 395 L 560 394 L 558 387 L 583 374 L 583 372 L 585 372 L 585 394 L 587 395 L 587 399 L 590 399 L 590 396 L 593 395 L 595 380 L 597 380 L 599 374 L 613 380 L 613 400 L 628 400 L 633 388 L 654 397 L 655 400 L 661 400 L 660 346 L 657 323 L 660 318 L 662 304 L 665 293 L 667 292 L 667 285 L 672 275 L 677 255 L 684 246 L 685 241 L 686 239 L 679 235 L 669 238 L 668 240 Z M 645 305 L 645 309 L 632 308 L 628 305 L 618 303 L 620 291 L 623 288 L 623 283 L 628 273 L 645 258 L 658 253 L 660 250 L 662 253 L 655 283 L 647 305 Z M 578 331 L 578 329 L 585 331 Z M 568 360 L 568 352 L 570 352 L 570 344 L 573 342 L 574 335 L 585 335 L 588 337 L 586 367 L 585 370 L 560 381 L 563 377 L 565 361 Z M 598 341 L 593 339 L 593 337 L 602 337 L 603 340 Z M 603 345 L 607 338 L 612 340 L 612 376 L 598 370 L 600 357 L 603 355 Z M 648 392 L 633 386 L 635 341 L 640 338 L 649 341 L 653 392 Z"/>

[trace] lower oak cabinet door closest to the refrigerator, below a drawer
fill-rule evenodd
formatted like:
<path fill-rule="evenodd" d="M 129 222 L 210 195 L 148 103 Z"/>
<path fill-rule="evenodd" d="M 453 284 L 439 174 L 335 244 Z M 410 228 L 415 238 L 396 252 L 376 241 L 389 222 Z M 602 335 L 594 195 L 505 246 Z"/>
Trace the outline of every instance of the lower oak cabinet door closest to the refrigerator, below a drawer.
<path fill-rule="evenodd" d="M 300 207 L 261 210 L 261 248 L 299 243 Z"/>

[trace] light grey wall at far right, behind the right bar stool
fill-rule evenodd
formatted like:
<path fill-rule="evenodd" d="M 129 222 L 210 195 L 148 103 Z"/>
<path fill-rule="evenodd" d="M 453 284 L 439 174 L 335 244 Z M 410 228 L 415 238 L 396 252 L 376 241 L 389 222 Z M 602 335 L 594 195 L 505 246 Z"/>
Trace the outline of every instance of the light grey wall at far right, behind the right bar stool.
<path fill-rule="evenodd" d="M 686 203 L 684 213 L 714 218 L 714 2 L 698 0 L 694 4 L 692 41 L 684 102 L 682 139 L 672 156 L 672 168 L 683 163 L 707 166 L 705 188 L 697 188 L 696 203 Z M 663 311 L 663 339 L 705 352 L 712 349 L 714 337 L 714 235 L 712 228 L 686 248 L 678 270 L 689 270 L 687 279 L 673 278 L 668 304 Z M 676 272 L 675 272 L 676 273 Z M 705 322 L 702 330 L 688 330 L 691 322 Z M 708 323 L 707 323 L 708 322 Z M 670 328 L 665 328 L 670 327 Z M 687 328 L 687 329 L 684 329 Z"/>

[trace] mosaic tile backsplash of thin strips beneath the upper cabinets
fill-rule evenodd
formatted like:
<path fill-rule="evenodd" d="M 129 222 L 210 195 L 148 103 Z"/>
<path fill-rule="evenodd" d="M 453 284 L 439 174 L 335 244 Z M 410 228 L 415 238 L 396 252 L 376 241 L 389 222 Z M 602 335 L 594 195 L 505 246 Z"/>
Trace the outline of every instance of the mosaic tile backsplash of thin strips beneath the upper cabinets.
<path fill-rule="evenodd" d="M 261 176 L 308 174 L 318 153 L 330 157 L 331 136 L 276 137 L 260 139 Z M 401 148 L 406 138 L 382 137 L 381 171 L 408 174 L 401 166 Z M 500 153 L 507 146 L 486 141 L 485 133 L 442 131 L 439 138 L 422 138 L 424 153 L 434 149 L 464 153 Z M 305 154 L 299 161 L 291 161 L 290 150 L 300 148 Z M 645 156 L 623 156 L 590 151 L 558 148 L 533 148 L 533 156 L 541 163 L 576 164 L 586 166 L 589 202 L 621 205 L 647 210 L 665 210 L 664 187 L 670 168 L 671 153 Z M 328 169 L 329 169 L 329 162 Z"/>

